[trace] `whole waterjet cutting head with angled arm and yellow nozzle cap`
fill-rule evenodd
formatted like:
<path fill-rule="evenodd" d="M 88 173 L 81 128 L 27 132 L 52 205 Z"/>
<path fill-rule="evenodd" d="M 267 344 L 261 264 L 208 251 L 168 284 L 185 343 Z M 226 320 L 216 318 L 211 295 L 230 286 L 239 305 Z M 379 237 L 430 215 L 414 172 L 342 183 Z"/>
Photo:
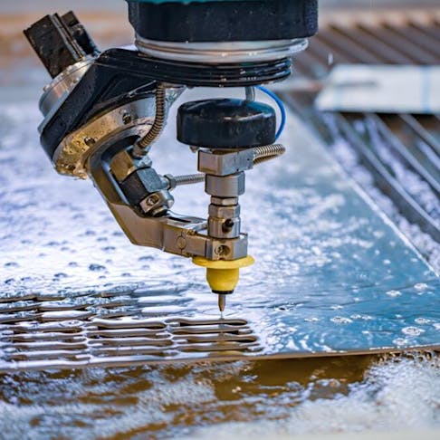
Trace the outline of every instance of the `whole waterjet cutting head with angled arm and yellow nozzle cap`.
<path fill-rule="evenodd" d="M 317 31 L 317 0 L 128 0 L 136 49 L 100 53 L 75 14 L 24 31 L 53 77 L 43 91 L 41 143 L 62 175 L 91 177 L 133 244 L 206 267 L 220 311 L 239 269 L 253 263 L 240 228 L 244 172 L 282 154 L 275 111 L 254 87 L 291 74 Z M 187 102 L 177 139 L 198 174 L 161 176 L 148 156 L 188 87 L 243 87 L 243 100 Z M 205 182 L 208 218 L 177 215 L 171 191 Z"/>

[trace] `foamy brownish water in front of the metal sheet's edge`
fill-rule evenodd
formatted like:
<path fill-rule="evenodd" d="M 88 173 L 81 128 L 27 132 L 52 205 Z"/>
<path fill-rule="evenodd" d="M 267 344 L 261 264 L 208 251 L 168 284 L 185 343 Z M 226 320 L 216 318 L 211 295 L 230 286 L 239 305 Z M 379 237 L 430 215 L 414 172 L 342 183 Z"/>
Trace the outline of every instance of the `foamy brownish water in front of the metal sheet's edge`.
<path fill-rule="evenodd" d="M 429 356 L 10 374 L 0 428 L 24 439 L 407 431 L 440 426 L 439 376 Z"/>

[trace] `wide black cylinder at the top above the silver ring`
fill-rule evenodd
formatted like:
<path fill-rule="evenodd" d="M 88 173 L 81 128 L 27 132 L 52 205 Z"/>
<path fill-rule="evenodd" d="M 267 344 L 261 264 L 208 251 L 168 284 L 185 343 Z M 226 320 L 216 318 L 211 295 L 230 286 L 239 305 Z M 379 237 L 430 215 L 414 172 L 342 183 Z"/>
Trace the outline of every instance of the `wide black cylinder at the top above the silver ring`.
<path fill-rule="evenodd" d="M 129 1 L 129 21 L 140 37 L 163 42 L 290 40 L 317 32 L 318 1 Z"/>

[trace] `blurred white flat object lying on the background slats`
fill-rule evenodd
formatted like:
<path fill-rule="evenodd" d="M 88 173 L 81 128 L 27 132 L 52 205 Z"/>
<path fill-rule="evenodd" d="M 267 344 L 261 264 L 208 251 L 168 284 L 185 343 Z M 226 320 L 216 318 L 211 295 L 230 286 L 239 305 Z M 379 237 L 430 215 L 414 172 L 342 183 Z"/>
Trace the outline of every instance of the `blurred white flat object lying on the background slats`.
<path fill-rule="evenodd" d="M 339 64 L 315 105 L 325 111 L 440 113 L 440 66 Z"/>

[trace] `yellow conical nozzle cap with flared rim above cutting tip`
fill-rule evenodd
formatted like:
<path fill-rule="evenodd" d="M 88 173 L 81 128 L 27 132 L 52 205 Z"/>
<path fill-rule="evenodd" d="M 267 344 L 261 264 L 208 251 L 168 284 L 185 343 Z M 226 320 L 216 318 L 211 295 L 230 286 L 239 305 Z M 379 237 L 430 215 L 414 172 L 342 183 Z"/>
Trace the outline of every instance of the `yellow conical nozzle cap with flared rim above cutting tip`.
<path fill-rule="evenodd" d="M 240 268 L 250 266 L 254 262 L 250 255 L 232 261 L 193 258 L 193 263 L 197 266 L 206 267 L 206 281 L 213 292 L 234 292 L 240 277 Z"/>

